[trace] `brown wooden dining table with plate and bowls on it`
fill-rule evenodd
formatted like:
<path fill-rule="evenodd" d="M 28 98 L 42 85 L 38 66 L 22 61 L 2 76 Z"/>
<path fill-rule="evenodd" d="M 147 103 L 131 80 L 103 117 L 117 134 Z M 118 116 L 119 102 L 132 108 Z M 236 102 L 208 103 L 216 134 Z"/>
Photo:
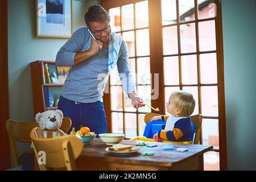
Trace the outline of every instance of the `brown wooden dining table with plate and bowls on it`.
<path fill-rule="evenodd" d="M 138 152 L 129 155 L 116 155 L 106 151 L 109 145 L 95 138 L 84 148 L 76 160 L 78 170 L 91 171 L 150 171 L 150 170 L 203 170 L 203 154 L 213 146 L 197 144 L 174 144 L 163 142 L 147 142 L 156 147 L 137 146 L 138 141 L 123 140 L 122 144 L 140 147 Z M 174 150 L 163 150 L 164 146 L 173 146 Z M 176 151 L 177 148 L 188 148 L 186 152 Z M 154 155 L 142 155 L 143 152 L 154 152 Z"/>

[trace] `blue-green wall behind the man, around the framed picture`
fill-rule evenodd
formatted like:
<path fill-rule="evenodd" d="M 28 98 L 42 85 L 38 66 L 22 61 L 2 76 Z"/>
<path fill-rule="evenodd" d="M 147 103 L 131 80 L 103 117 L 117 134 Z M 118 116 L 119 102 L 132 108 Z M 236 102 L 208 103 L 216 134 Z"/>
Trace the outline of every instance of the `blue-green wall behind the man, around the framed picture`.
<path fill-rule="evenodd" d="M 89 3 L 73 1 L 73 31 L 84 26 L 84 13 Z M 10 119 L 34 121 L 30 63 L 55 60 L 67 39 L 36 38 L 35 0 L 8 1 L 9 102 Z M 18 154 L 27 145 L 18 145 Z"/>

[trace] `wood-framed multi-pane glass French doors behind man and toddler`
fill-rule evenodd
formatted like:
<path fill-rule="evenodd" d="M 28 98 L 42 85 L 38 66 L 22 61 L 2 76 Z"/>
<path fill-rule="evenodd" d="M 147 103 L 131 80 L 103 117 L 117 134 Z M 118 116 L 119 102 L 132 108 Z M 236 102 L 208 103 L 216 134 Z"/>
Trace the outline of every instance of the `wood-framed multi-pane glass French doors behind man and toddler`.
<path fill-rule="evenodd" d="M 214 146 L 205 161 L 226 169 L 225 97 L 221 5 L 213 0 L 102 1 L 112 31 L 129 47 L 137 92 L 146 104 L 168 114 L 165 103 L 175 90 L 191 92 L 192 115 L 202 114 L 201 144 Z M 104 95 L 109 131 L 127 138 L 143 135 L 148 107 L 134 109 L 115 70 Z"/>

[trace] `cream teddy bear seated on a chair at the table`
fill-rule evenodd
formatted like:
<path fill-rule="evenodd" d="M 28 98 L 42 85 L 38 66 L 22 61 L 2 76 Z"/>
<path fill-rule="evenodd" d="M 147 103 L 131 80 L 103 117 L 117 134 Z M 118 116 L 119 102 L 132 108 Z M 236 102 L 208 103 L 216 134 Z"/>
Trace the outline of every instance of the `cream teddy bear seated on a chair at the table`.
<path fill-rule="evenodd" d="M 35 121 L 43 131 L 44 138 L 53 138 L 67 135 L 60 129 L 63 119 L 61 110 L 47 110 L 43 113 L 38 113 L 35 116 Z"/>

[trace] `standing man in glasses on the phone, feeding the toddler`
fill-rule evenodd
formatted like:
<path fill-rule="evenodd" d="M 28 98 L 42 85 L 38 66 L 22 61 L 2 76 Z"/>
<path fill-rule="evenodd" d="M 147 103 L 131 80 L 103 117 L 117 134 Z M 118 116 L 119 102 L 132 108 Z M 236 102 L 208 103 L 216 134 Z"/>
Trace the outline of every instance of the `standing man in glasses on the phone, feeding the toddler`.
<path fill-rule="evenodd" d="M 132 105 L 144 106 L 130 73 L 127 45 L 111 31 L 109 22 L 110 16 L 103 7 L 90 6 L 85 14 L 87 27 L 76 30 L 57 53 L 57 66 L 72 66 L 58 104 L 64 116 L 72 119 L 71 129 L 79 130 L 82 125 L 96 134 L 107 132 L 102 96 L 116 64 Z"/>

